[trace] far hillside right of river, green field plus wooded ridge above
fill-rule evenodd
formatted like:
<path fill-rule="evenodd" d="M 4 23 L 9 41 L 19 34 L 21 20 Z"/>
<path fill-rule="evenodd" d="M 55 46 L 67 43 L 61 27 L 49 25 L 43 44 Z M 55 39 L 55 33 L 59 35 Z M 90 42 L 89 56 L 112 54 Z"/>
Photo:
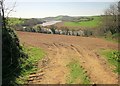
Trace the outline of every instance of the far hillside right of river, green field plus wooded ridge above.
<path fill-rule="evenodd" d="M 68 28 L 71 30 L 97 29 L 101 25 L 101 16 L 74 17 L 71 21 L 62 21 L 54 26 L 59 29 Z"/>

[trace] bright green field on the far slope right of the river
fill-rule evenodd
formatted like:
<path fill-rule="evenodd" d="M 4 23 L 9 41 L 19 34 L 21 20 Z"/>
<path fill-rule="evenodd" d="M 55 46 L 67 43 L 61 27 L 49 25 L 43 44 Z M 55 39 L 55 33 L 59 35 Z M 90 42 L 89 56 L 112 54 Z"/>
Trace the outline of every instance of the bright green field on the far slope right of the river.
<path fill-rule="evenodd" d="M 95 28 L 98 27 L 100 24 L 100 17 L 95 16 L 91 21 L 82 21 L 82 22 L 65 22 L 65 26 L 81 26 L 81 27 L 87 27 L 87 28 Z"/>

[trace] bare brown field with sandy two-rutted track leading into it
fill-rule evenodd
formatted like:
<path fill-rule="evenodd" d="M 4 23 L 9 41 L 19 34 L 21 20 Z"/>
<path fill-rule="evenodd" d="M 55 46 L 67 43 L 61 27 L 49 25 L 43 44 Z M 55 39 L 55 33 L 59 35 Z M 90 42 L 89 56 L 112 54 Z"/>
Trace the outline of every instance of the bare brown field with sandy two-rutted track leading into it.
<path fill-rule="evenodd" d="M 86 71 L 91 83 L 117 84 L 117 74 L 110 69 L 108 62 L 98 54 L 99 49 L 117 49 L 117 44 L 99 38 L 49 35 L 40 33 L 17 32 L 21 43 L 40 47 L 47 52 L 44 73 L 33 84 L 65 84 L 71 60 L 78 60 Z M 38 63 L 41 68 L 41 62 Z M 36 73 L 38 75 L 38 73 Z"/>

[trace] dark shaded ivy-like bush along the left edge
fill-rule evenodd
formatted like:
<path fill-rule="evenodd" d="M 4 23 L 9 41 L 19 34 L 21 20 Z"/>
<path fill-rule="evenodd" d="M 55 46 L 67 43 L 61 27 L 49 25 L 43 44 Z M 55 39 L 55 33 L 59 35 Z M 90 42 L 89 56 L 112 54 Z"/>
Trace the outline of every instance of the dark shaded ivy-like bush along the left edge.
<path fill-rule="evenodd" d="M 19 72 L 22 47 L 15 32 L 2 28 L 2 83 L 14 84 L 15 73 Z"/>

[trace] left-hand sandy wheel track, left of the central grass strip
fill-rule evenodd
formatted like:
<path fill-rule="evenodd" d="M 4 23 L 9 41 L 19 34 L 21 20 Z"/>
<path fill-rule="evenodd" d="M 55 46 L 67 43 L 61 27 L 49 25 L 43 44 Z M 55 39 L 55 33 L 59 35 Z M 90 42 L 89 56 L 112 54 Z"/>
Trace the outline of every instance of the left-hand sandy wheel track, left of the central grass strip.
<path fill-rule="evenodd" d="M 45 75 L 44 78 L 41 80 L 39 84 L 65 84 L 66 83 L 66 75 L 68 71 L 66 71 L 66 66 L 64 63 L 63 57 L 61 57 L 61 53 L 63 54 L 63 50 L 59 48 L 59 45 L 56 43 L 53 43 L 51 47 L 53 50 L 53 53 L 49 53 L 50 56 L 50 63 L 48 64 L 48 67 L 44 70 Z M 51 55 L 50 55 L 51 54 Z M 64 77 L 64 78 L 63 78 Z"/>

